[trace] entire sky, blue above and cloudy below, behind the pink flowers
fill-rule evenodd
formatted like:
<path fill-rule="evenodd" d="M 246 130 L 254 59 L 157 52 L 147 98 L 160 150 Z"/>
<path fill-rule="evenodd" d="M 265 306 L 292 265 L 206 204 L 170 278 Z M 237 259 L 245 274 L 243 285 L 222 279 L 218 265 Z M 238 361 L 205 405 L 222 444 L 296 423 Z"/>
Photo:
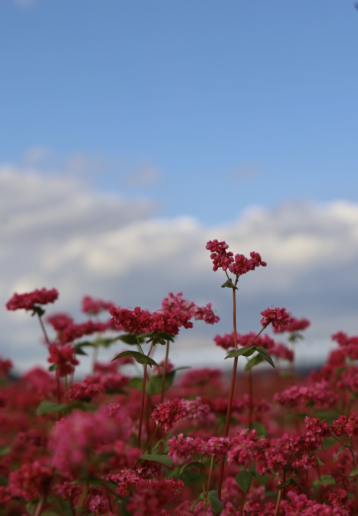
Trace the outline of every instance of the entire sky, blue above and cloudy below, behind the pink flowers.
<path fill-rule="evenodd" d="M 220 321 L 182 329 L 173 362 L 224 366 L 214 238 L 267 262 L 240 279 L 238 331 L 270 305 L 310 319 L 303 365 L 356 334 L 357 49 L 352 0 L 2 0 L 3 358 L 46 366 L 14 292 L 56 287 L 46 313 L 80 322 L 85 294 L 155 310 L 182 291 Z"/>

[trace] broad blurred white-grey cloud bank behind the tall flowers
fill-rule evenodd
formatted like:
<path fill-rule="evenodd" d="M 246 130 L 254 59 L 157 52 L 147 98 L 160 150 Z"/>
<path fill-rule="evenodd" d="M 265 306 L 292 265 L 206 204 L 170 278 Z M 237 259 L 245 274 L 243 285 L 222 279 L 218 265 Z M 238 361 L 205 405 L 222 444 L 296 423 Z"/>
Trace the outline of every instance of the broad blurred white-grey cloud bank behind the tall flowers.
<path fill-rule="evenodd" d="M 169 291 L 183 291 L 198 304 L 211 301 L 221 321 L 210 328 L 199 321 L 196 329 L 183 330 L 180 364 L 199 363 L 210 348 L 204 362 L 217 365 L 212 338 L 231 331 L 230 295 L 220 288 L 225 276 L 212 271 L 205 249 L 213 238 L 225 239 L 234 253 L 260 252 L 268 263 L 240 278 L 239 331 L 259 329 L 260 311 L 271 304 L 312 320 L 313 344 L 302 345 L 305 356 L 314 343 L 329 345 L 332 332 L 356 331 L 356 204 L 252 207 L 234 222 L 204 227 L 185 216 L 156 218 L 149 202 L 105 196 L 67 176 L 8 166 L 0 169 L 0 221 L 3 306 L 13 292 L 43 286 L 60 291 L 49 312 L 71 311 L 77 317 L 84 294 L 149 309 L 158 308 Z M 44 357 L 29 314 L 4 309 L 0 325 L 2 354 L 15 361 L 21 356 L 22 368 Z M 196 358 L 189 357 L 190 348 Z"/>

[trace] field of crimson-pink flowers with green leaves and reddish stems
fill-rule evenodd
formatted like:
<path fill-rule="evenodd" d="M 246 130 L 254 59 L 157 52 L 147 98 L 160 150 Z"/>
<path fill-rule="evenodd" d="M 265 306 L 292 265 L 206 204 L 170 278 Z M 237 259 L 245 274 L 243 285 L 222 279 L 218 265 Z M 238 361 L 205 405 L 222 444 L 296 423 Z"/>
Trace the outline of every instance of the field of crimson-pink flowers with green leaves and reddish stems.
<path fill-rule="evenodd" d="M 38 318 L 48 370 L 15 380 L 0 358 L 0 516 L 357 514 L 358 337 L 337 329 L 327 363 L 300 376 L 294 351 L 310 322 L 270 307 L 241 334 L 238 281 L 266 263 L 225 241 L 206 247 L 233 313 L 208 345 L 223 348 L 229 377 L 171 362 L 180 329 L 219 320 L 210 302 L 169 293 L 149 312 L 85 296 L 77 324 L 51 313 L 55 288 L 8 301 Z M 92 370 L 75 381 L 84 354 Z"/>

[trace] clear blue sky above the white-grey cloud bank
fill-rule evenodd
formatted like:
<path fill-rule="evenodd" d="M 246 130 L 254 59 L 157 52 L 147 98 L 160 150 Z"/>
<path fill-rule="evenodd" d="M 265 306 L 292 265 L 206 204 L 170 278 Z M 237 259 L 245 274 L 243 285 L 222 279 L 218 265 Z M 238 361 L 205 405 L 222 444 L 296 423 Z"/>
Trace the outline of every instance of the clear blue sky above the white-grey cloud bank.
<path fill-rule="evenodd" d="M 356 200 L 351 0 L 3 0 L 0 20 L 0 163 L 41 148 L 45 173 L 210 223 Z"/>

